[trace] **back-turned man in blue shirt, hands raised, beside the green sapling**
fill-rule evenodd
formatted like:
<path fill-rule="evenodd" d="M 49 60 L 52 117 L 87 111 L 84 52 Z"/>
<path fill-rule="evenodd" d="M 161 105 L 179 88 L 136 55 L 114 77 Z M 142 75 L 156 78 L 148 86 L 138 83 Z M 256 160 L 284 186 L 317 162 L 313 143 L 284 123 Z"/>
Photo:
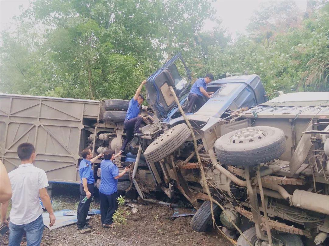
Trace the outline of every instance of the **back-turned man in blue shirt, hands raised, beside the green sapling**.
<path fill-rule="evenodd" d="M 129 167 L 126 167 L 122 173 L 119 173 L 119 169 L 112 162 L 120 154 L 121 152 L 114 155 L 112 150 L 106 150 L 104 160 L 101 162 L 102 182 L 99 187 L 99 198 L 101 200 L 101 221 L 105 228 L 111 227 L 112 216 L 118 208 L 116 200 L 119 197 L 117 193 L 118 178 L 129 170 Z"/>

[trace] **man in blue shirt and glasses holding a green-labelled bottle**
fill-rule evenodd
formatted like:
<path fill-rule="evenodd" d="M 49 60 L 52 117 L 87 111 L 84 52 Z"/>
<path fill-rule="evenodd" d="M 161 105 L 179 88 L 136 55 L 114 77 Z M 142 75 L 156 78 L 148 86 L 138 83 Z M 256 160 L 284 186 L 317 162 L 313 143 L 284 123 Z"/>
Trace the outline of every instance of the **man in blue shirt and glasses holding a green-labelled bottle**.
<path fill-rule="evenodd" d="M 86 148 L 81 152 L 83 160 L 80 161 L 79 174 L 80 174 L 80 202 L 78 205 L 78 222 L 77 226 L 79 230 L 91 228 L 86 218 L 88 215 L 91 199 L 90 197 L 94 193 L 94 174 L 91 168 L 92 163 L 94 163 L 98 158 L 102 157 L 103 154 L 99 154 L 92 158 L 92 152 L 90 149 Z M 83 198 L 88 197 L 85 203 L 82 203 Z"/>

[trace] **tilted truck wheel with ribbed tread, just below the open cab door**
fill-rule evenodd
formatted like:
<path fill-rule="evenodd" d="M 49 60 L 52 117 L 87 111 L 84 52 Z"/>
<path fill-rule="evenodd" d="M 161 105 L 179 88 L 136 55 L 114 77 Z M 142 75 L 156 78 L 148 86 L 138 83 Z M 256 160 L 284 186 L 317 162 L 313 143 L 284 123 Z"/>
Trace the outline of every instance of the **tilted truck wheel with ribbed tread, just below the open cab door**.
<path fill-rule="evenodd" d="M 156 162 L 173 153 L 191 135 L 185 124 L 179 124 L 166 130 L 145 150 L 144 156 L 149 162 Z"/>

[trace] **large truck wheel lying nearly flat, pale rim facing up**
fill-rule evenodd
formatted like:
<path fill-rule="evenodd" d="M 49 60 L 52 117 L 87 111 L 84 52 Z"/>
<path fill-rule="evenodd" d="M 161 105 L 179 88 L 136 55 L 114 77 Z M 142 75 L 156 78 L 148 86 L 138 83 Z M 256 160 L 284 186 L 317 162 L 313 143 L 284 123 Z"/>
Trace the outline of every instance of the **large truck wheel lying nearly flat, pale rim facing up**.
<path fill-rule="evenodd" d="M 284 132 L 275 127 L 247 127 L 227 133 L 215 142 L 220 162 L 233 165 L 255 165 L 280 157 L 285 152 Z"/>

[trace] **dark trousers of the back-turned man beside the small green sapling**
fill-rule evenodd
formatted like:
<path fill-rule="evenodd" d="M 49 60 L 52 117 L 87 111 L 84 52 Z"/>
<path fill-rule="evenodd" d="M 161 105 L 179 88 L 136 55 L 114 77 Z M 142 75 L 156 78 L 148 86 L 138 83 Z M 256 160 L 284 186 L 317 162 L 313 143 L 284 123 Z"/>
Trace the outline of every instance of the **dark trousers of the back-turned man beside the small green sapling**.
<path fill-rule="evenodd" d="M 111 195 L 105 195 L 103 193 L 99 193 L 99 198 L 101 200 L 101 221 L 102 224 L 111 225 L 113 223 L 113 215 L 115 210 L 118 209 L 118 198 L 119 195 L 117 192 L 114 192 Z"/>

